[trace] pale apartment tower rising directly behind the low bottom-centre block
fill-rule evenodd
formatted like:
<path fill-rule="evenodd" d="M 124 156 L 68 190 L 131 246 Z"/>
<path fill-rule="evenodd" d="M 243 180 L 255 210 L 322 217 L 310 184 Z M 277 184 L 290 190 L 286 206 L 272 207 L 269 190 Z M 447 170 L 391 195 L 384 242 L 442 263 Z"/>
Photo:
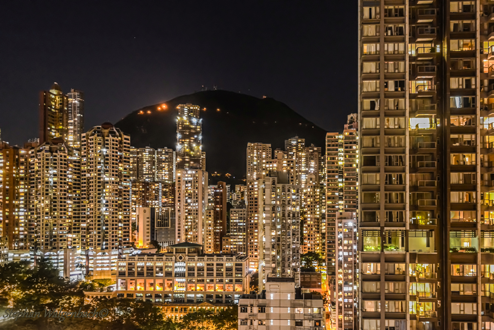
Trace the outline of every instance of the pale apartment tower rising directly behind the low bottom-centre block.
<path fill-rule="evenodd" d="M 270 172 L 259 180 L 259 289 L 268 277 L 291 277 L 300 284 L 300 186 L 288 174 Z"/>

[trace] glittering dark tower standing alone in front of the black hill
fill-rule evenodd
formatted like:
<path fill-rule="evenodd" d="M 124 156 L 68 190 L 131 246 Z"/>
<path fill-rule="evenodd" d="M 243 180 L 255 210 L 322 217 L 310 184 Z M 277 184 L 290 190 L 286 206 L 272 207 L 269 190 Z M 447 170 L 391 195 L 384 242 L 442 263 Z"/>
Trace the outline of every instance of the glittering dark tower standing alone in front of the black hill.
<path fill-rule="evenodd" d="M 199 105 L 179 104 L 177 106 L 177 169 L 204 169 L 206 161 L 202 154 L 202 119 Z"/>

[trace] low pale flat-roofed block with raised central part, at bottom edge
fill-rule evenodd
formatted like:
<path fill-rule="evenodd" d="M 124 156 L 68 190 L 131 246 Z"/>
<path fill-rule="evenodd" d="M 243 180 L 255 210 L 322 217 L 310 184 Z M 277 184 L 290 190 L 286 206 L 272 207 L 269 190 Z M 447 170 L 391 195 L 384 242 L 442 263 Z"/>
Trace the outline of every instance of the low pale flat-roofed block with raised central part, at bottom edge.
<path fill-rule="evenodd" d="M 239 301 L 239 330 L 324 330 L 322 297 L 302 293 L 294 278 L 266 278 L 261 294 Z"/>

